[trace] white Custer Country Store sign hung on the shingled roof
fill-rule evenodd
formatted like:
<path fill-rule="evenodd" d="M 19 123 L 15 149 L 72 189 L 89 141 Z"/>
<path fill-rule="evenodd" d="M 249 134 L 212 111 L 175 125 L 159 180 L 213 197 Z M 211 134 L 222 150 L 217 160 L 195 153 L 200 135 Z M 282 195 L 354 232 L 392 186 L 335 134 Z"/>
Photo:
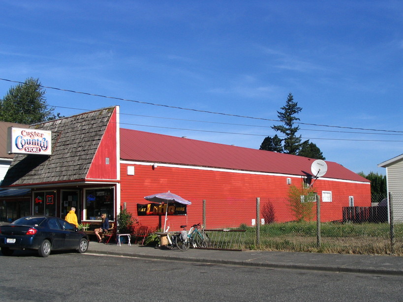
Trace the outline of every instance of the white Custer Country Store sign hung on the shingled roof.
<path fill-rule="evenodd" d="M 52 155 L 52 132 L 9 127 L 7 135 L 7 152 Z"/>

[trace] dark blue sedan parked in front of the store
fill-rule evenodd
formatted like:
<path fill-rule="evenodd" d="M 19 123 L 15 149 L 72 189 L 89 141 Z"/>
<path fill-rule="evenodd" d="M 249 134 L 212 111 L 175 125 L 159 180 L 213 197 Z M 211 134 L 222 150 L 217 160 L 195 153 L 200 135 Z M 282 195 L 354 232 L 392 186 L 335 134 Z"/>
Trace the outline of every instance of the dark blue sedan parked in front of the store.
<path fill-rule="evenodd" d="M 87 234 L 57 217 L 27 216 L 0 226 L 0 247 L 4 256 L 11 256 L 16 249 L 37 250 L 41 257 L 49 256 L 51 250 L 85 253 L 88 242 Z"/>

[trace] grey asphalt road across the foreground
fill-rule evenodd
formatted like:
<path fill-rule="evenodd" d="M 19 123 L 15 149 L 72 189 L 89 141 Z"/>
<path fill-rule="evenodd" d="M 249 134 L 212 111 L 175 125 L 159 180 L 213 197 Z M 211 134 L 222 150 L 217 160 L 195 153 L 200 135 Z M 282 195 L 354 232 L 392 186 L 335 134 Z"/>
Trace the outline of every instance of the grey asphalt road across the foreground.
<path fill-rule="evenodd" d="M 0 301 L 402 301 L 402 276 L 133 257 L 0 254 Z"/>

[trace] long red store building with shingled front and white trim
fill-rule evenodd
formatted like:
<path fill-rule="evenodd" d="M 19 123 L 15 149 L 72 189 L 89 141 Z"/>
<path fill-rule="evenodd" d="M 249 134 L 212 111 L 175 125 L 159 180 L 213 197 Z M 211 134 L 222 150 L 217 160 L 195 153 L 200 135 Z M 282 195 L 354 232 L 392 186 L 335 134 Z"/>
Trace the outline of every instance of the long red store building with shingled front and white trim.
<path fill-rule="evenodd" d="M 207 200 L 210 228 L 250 225 L 256 197 L 270 202 L 273 221 L 282 222 L 295 219 L 285 202 L 290 185 L 313 182 L 311 158 L 123 129 L 119 107 L 31 128 L 52 131 L 52 155 L 16 154 L 2 186 L 31 188 L 33 214 L 64 217 L 75 206 L 81 221 L 98 220 L 104 211 L 114 220 L 121 208 L 137 217 L 145 196 L 171 191 L 192 202 L 192 219 L 200 220 Z M 371 206 L 370 181 L 338 163 L 326 164 L 326 175 L 313 185 L 322 221 L 340 220 L 341 208 L 351 202 Z M 227 211 L 241 204 L 251 211 Z M 157 224 L 153 215 L 138 220 Z M 171 228 L 183 220 L 171 216 Z"/>

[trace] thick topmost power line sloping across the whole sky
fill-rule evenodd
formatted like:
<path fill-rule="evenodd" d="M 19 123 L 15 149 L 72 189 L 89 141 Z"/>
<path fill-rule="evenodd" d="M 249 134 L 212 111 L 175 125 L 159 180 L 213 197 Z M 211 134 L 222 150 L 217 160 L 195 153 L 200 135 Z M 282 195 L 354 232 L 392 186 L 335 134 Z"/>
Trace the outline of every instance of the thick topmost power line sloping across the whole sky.
<path fill-rule="evenodd" d="M 26 84 L 26 83 L 24 83 L 24 82 L 13 81 L 13 80 L 7 80 L 7 79 L 1 79 L 1 78 L 0 78 L 0 80 L 2 80 L 2 81 L 7 81 L 7 82 L 12 82 L 12 83 Z M 222 113 L 222 112 L 206 111 L 206 110 L 199 110 L 199 109 L 192 109 L 192 108 L 184 108 L 184 107 L 170 106 L 170 105 L 165 105 L 165 104 L 156 104 L 156 103 L 151 103 L 151 102 L 136 101 L 136 100 L 125 99 L 125 98 L 120 98 L 120 97 L 115 97 L 115 96 L 106 96 L 106 95 L 95 94 L 95 93 L 89 93 L 89 92 L 73 91 L 73 90 L 67 90 L 67 89 L 56 88 L 56 87 L 50 87 L 50 86 L 43 86 L 43 85 L 39 85 L 39 86 L 40 86 L 40 87 L 43 87 L 43 88 L 47 88 L 47 89 L 53 89 L 53 90 L 59 90 L 59 91 L 66 91 L 66 92 L 72 92 L 72 93 L 79 93 L 79 94 L 85 94 L 85 95 L 91 95 L 91 96 L 98 96 L 98 97 L 116 99 L 116 100 L 121 100 L 121 101 L 134 102 L 134 103 L 139 103 L 139 104 L 146 104 L 146 105 L 153 105 L 153 106 L 161 106 L 161 107 L 166 107 L 166 108 L 173 108 L 173 109 L 180 109 L 180 110 L 188 110 L 188 111 L 195 111 L 195 112 L 201 112 L 201 113 L 210 113 L 210 114 L 217 114 L 217 115 L 230 116 L 230 117 L 237 117 L 237 118 L 254 119 L 254 120 L 262 120 L 262 121 L 278 121 L 278 122 L 281 122 L 281 121 L 279 121 L 279 120 L 264 119 L 264 118 L 256 118 L 256 117 L 249 117 L 249 116 L 242 116 L 242 115 L 234 115 L 234 114 L 227 114 L 227 113 Z M 356 127 L 346 127 L 346 126 L 334 126 L 334 125 L 313 124 L 313 123 L 304 123 L 304 122 L 295 122 L 295 123 L 296 123 L 296 124 L 303 124 L 303 125 L 311 125 L 311 126 L 320 126 L 320 127 L 341 128 L 341 129 L 354 129 L 354 130 L 366 130 L 366 131 L 380 131 L 380 132 L 403 133 L 403 131 L 395 131 L 395 130 L 367 129 L 367 128 L 356 128 Z"/>

